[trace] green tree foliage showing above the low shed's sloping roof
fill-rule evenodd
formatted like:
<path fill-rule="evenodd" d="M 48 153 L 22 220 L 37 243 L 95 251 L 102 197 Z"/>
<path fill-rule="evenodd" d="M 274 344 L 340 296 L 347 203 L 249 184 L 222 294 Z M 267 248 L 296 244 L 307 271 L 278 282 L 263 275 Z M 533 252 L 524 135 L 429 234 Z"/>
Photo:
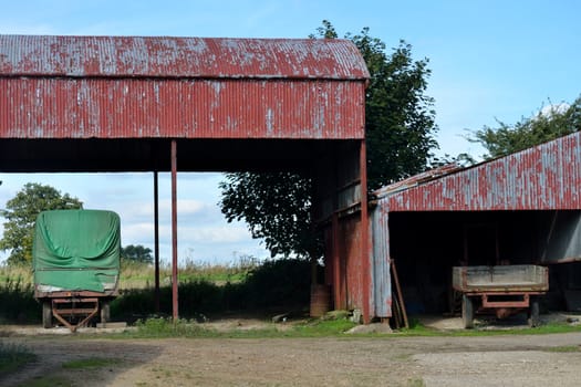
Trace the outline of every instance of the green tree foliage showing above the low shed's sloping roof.
<path fill-rule="evenodd" d="M 468 139 L 488 151 L 485 159 L 505 156 L 551 139 L 581 130 L 581 96 L 571 105 L 549 104 L 530 118 L 515 125 L 498 122 L 498 127 L 485 126 Z"/>

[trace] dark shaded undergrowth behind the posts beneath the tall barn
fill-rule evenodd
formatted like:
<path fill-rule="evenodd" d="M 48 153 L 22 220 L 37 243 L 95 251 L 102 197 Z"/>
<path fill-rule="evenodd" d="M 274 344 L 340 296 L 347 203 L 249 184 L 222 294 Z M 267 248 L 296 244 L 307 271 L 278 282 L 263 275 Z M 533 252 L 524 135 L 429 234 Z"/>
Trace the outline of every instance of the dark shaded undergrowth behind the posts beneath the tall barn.
<path fill-rule="evenodd" d="M 264 261 L 253 269 L 238 268 L 238 272 L 227 272 L 236 280 L 226 282 L 219 280 L 221 276 L 210 275 L 214 270 L 217 269 L 206 266 L 201 272 L 195 272 L 190 268 L 185 272 L 196 275 L 180 275 L 178 308 L 181 317 L 204 320 L 208 314 L 228 312 L 297 311 L 309 304 L 311 269 L 307 261 Z M 154 314 L 170 315 L 170 283 L 160 286 L 159 311 L 154 307 L 155 293 L 149 285 L 122 290 L 122 295 L 112 303 L 111 312 L 124 321 Z"/>

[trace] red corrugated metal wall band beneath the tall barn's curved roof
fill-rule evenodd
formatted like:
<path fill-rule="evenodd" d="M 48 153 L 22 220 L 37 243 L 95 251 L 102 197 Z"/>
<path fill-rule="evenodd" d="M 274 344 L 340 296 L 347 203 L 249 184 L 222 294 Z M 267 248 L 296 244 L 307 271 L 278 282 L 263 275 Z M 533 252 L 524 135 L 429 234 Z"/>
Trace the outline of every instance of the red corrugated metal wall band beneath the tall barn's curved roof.
<path fill-rule="evenodd" d="M 0 79 L 0 138 L 364 136 L 364 84 Z"/>

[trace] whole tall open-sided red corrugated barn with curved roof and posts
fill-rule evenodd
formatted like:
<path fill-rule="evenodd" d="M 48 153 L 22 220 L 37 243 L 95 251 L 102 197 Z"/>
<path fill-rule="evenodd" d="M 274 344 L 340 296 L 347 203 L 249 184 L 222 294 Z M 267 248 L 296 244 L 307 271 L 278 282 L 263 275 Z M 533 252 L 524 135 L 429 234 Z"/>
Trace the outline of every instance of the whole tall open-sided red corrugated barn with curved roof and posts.
<path fill-rule="evenodd" d="M 174 275 L 177 170 L 309 171 L 335 307 L 369 321 L 367 79 L 346 40 L 0 35 L 0 170 L 170 170 Z"/>

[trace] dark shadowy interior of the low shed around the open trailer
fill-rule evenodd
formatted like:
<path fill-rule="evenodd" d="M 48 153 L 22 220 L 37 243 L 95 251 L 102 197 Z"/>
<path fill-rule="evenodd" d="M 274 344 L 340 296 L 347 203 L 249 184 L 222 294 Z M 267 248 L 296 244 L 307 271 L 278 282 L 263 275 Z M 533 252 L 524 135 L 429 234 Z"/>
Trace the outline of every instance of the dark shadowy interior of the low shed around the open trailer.
<path fill-rule="evenodd" d="M 452 291 L 457 265 L 548 264 L 543 305 L 574 308 L 581 289 L 581 211 L 428 211 L 390 215 L 407 312 L 458 312 Z"/>

